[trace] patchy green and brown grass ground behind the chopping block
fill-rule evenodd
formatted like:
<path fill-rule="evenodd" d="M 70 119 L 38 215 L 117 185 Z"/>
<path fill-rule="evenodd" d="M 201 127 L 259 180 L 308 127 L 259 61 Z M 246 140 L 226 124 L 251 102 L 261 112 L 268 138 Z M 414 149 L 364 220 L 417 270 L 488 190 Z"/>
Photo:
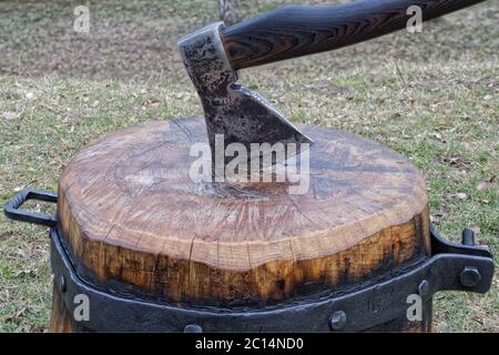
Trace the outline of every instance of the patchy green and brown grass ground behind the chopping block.
<path fill-rule="evenodd" d="M 283 2 L 246 2 L 242 12 Z M 202 113 L 175 41 L 215 21 L 216 1 L 90 1 L 89 34 L 72 31 L 75 4 L 0 2 L 1 204 L 24 186 L 55 190 L 62 166 L 108 132 Z M 242 82 L 294 121 L 405 154 L 427 179 L 438 230 L 457 242 L 472 227 L 497 255 L 498 20 L 488 1 L 422 33 L 249 69 Z M 47 331 L 50 281 L 47 232 L 0 215 L 0 332 Z M 486 295 L 437 294 L 435 329 L 499 332 L 498 311 L 496 274 Z"/>

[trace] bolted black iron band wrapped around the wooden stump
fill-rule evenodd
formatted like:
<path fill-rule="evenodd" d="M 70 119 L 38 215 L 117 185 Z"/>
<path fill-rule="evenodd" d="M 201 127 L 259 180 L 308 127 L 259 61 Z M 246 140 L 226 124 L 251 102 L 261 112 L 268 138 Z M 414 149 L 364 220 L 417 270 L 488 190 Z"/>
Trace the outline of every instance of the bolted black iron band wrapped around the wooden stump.
<path fill-rule="evenodd" d="M 431 229 L 435 250 L 444 252 L 359 290 L 267 308 L 184 307 L 92 286 L 77 274 L 58 231 L 50 233 L 54 282 L 67 310 L 74 314 L 80 305 L 75 296 L 86 295 L 90 320 L 75 323 L 94 332 L 359 332 L 405 317 L 411 294 L 429 301 L 447 290 L 485 293 L 495 267 L 487 250 L 448 243 Z M 450 250 L 457 253 L 446 252 Z"/>

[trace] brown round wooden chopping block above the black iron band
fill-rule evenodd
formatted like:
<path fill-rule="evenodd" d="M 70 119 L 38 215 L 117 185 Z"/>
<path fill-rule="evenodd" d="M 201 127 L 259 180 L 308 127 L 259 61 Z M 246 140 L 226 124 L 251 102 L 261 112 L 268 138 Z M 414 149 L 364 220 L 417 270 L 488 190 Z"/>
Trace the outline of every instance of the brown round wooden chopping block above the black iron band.
<path fill-rule="evenodd" d="M 195 183 L 204 120 L 111 133 L 63 170 L 58 211 L 79 271 L 106 287 L 204 305 L 269 304 L 336 290 L 428 254 L 428 197 L 403 155 L 353 134 L 315 140 L 309 189 Z"/>

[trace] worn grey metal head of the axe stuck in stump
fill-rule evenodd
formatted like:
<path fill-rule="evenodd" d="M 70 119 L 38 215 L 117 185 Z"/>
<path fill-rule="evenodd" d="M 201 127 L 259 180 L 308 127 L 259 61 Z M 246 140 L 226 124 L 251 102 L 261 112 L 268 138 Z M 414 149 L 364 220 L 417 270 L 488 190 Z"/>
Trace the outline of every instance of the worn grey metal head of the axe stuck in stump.
<path fill-rule="evenodd" d="M 293 150 L 286 149 L 286 159 L 291 158 L 289 154 L 299 153 L 301 149 L 309 146 L 312 140 L 257 92 L 236 84 L 237 71 L 232 69 L 220 36 L 223 26 L 223 22 L 210 24 L 177 43 L 203 104 L 212 162 L 215 161 L 217 134 L 223 134 L 224 149 L 231 143 L 241 143 L 252 152 L 254 143 L 273 146 L 283 143 L 285 148 L 294 143 Z M 224 160 L 226 163 L 226 158 Z M 278 162 L 275 158 L 272 161 L 273 164 Z"/>

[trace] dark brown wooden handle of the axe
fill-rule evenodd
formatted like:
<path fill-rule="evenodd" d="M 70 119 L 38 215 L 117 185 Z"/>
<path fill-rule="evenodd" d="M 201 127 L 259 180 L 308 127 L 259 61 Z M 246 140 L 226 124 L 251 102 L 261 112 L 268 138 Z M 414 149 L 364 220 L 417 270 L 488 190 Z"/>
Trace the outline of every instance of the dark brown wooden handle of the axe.
<path fill-rule="evenodd" d="M 422 20 L 483 0 L 363 0 L 339 6 L 287 6 L 221 31 L 232 68 L 266 64 L 358 43 L 407 26 L 411 6 Z"/>

